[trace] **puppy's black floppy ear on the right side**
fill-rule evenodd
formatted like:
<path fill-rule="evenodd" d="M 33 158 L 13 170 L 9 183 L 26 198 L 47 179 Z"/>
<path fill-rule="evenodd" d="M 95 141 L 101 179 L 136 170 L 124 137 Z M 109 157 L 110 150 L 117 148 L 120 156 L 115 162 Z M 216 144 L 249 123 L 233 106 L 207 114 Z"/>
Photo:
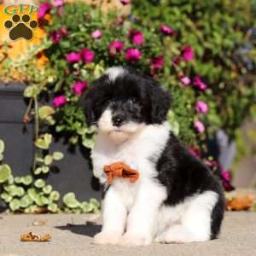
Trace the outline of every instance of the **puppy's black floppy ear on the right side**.
<path fill-rule="evenodd" d="M 171 108 L 171 96 L 153 79 L 150 79 L 148 84 L 151 122 L 152 124 L 162 124 L 166 121 L 168 110 Z"/>

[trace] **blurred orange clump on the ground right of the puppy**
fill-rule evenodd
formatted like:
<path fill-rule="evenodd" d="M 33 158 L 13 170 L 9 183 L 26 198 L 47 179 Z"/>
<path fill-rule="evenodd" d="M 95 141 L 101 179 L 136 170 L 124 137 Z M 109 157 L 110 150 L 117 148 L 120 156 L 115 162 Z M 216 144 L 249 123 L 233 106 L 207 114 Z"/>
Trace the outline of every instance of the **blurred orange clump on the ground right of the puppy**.
<path fill-rule="evenodd" d="M 253 196 L 236 196 L 226 202 L 228 211 L 245 211 L 253 207 Z"/>

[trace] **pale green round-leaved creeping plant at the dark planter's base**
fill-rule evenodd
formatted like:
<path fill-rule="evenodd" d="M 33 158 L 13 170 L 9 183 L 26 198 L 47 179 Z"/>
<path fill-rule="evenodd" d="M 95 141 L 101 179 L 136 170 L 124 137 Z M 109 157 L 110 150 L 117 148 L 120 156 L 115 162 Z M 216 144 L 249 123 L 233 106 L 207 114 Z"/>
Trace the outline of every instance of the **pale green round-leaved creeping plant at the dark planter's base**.
<path fill-rule="evenodd" d="M 47 137 L 47 136 L 46 136 Z M 51 140 L 50 137 L 46 140 Z M 4 143 L 0 140 L 0 151 L 3 154 Z M 50 165 L 53 160 L 61 160 L 63 154 L 61 152 L 54 152 L 52 155 L 46 155 L 44 164 Z M 49 160 L 50 159 L 50 160 Z M 44 172 L 42 166 L 41 171 Z M 38 169 L 36 169 L 38 170 Z M 37 175 L 37 173 L 34 173 Z M 89 203 L 76 202 L 75 195 L 67 194 L 63 198 L 64 206 L 61 207 L 61 195 L 58 191 L 53 190 L 50 184 L 47 184 L 44 179 L 27 175 L 25 177 L 13 177 L 11 169 L 8 165 L 0 166 L 0 183 L 3 183 L 3 192 L 1 199 L 9 205 L 12 212 L 25 212 L 25 213 L 43 213 L 43 212 L 98 212 L 99 203 L 91 200 Z"/>

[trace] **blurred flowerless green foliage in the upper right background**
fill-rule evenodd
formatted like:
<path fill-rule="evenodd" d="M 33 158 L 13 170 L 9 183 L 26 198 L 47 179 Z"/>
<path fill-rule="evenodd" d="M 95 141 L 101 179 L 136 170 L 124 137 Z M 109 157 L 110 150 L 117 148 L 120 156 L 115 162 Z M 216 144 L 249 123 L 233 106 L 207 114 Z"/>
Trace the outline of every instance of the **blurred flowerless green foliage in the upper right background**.
<path fill-rule="evenodd" d="M 249 109 L 256 103 L 255 39 L 252 36 L 256 1 L 160 0 L 155 4 L 154 1 L 134 0 L 132 3 L 133 13 L 142 26 L 165 24 L 175 30 L 171 38 L 165 38 L 165 55 L 171 60 L 185 44 L 195 49 L 195 60 L 181 63 L 178 72 L 190 78 L 199 74 L 209 88 L 204 96 L 191 97 L 191 103 L 199 97 L 208 103 L 210 113 L 203 118 L 208 134 L 223 127 L 235 137 L 236 128 L 247 116 L 253 116 Z M 177 80 L 176 73 L 177 67 L 166 67 L 167 79 L 174 76 L 173 81 Z M 177 97 L 174 96 L 173 101 L 177 101 Z"/>

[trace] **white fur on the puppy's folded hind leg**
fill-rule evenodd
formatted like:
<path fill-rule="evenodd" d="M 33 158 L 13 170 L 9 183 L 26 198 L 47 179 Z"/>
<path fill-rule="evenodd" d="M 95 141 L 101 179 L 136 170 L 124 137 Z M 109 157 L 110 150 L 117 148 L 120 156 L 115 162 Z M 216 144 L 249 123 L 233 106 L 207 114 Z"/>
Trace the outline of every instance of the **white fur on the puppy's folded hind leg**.
<path fill-rule="evenodd" d="M 212 208 L 217 201 L 217 193 L 206 191 L 187 198 L 175 207 L 161 207 L 155 241 L 170 243 L 209 240 Z"/>

